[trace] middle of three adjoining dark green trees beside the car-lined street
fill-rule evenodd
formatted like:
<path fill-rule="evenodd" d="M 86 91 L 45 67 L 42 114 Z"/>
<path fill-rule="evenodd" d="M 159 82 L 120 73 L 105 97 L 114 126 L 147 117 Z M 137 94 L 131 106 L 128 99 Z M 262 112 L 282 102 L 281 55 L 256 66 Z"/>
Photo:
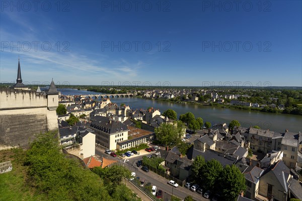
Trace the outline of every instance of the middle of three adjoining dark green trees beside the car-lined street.
<path fill-rule="evenodd" d="M 201 168 L 200 178 L 203 182 L 207 184 L 209 189 L 214 189 L 216 181 L 220 177 L 223 168 L 219 161 L 212 159 L 206 162 L 206 164 Z"/>

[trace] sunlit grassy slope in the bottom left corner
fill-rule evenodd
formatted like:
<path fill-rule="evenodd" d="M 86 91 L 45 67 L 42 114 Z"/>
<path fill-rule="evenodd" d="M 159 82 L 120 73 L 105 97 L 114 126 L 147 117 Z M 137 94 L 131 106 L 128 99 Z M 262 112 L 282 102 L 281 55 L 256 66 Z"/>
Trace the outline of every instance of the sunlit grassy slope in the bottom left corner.
<path fill-rule="evenodd" d="M 27 185 L 26 167 L 23 166 L 25 151 L 10 149 L 0 151 L 0 162 L 11 161 L 13 170 L 0 174 L 0 200 L 47 200 L 43 193 Z"/>

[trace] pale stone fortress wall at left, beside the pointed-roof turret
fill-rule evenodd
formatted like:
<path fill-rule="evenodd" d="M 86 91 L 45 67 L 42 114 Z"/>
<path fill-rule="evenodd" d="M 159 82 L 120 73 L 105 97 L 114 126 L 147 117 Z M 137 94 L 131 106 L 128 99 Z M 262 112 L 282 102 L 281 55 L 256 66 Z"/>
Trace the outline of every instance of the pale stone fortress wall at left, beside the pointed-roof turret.
<path fill-rule="evenodd" d="M 34 134 L 58 129 L 56 111 L 47 109 L 47 96 L 35 91 L 0 89 L 0 150 L 28 148 Z"/>

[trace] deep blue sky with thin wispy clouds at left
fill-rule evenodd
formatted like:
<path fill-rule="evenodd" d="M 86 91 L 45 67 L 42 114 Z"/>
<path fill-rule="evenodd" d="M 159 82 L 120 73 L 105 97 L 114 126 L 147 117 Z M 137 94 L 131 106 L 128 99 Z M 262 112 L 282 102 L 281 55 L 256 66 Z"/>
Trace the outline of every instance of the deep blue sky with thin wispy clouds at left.
<path fill-rule="evenodd" d="M 20 55 L 25 83 L 302 86 L 301 1 L 13 4 L 0 5 L 2 82 Z"/>

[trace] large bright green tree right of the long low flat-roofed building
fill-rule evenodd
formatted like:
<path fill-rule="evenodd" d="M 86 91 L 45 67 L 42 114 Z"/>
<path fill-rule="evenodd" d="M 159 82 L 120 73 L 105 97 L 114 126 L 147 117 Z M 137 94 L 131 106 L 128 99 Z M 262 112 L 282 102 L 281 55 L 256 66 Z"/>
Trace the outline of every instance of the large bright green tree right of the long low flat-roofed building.
<path fill-rule="evenodd" d="M 178 124 L 162 123 L 160 127 L 155 128 L 156 138 L 168 149 L 169 144 L 175 144 L 180 141 L 182 129 L 178 128 Z"/>

